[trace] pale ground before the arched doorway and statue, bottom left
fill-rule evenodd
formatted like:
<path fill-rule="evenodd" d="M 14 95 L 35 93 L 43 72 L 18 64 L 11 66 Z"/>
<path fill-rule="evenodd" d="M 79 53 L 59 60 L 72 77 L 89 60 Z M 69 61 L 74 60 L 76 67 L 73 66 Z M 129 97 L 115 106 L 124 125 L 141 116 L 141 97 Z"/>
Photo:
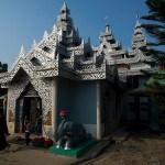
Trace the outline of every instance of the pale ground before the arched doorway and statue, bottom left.
<path fill-rule="evenodd" d="M 14 145 L 14 144 L 13 144 Z M 18 147 L 16 145 L 11 147 Z M 0 165 L 67 165 L 74 158 L 52 154 L 45 150 L 22 146 L 15 152 L 0 153 Z"/>

